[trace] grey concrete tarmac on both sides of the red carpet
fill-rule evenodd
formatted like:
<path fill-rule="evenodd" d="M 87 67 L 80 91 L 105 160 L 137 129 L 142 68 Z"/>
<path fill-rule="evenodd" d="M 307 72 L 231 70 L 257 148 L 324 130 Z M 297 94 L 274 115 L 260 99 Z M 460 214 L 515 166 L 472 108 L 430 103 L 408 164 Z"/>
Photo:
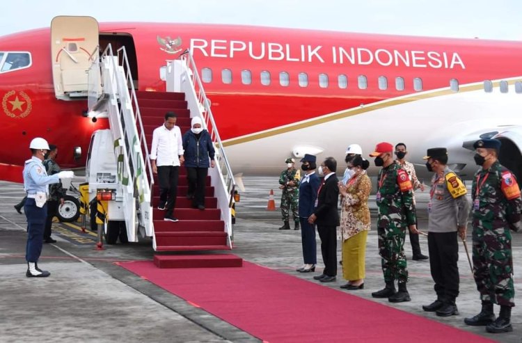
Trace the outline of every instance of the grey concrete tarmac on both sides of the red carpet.
<path fill-rule="evenodd" d="M 276 207 L 280 204 L 277 178 L 244 177 L 244 184 L 246 191 L 236 205 L 232 253 L 248 262 L 318 283 L 313 276 L 318 275 L 323 266 L 319 237 L 316 273 L 297 273 L 296 267 L 303 264 L 301 232 L 278 230 L 283 224 L 279 209 L 266 210 L 270 189 L 274 189 Z M 118 262 L 123 261 L 152 260 L 154 252 L 150 239 L 141 239 L 136 244 L 105 246 L 106 250 L 99 251 L 94 249 L 96 234 L 89 230 L 82 233 L 81 223 L 54 223 L 53 237 L 57 242 L 44 245 L 39 262 L 40 268 L 52 275 L 42 279 L 26 278 L 26 218 L 13 209 L 23 196 L 21 184 L 0 182 L 0 342 L 261 342 L 118 266 Z M 417 192 L 419 228 L 423 231 L 427 231 L 428 196 L 428 191 Z M 421 306 L 431 303 L 436 296 L 429 262 L 411 260 L 409 238 L 406 238 L 405 250 L 411 301 L 392 305 L 386 298 L 372 298 L 371 293 L 383 287 L 383 278 L 377 249 L 374 196 L 369 203 L 372 231 L 367 239 L 365 289 L 340 292 L 351 292 L 498 342 L 522 342 L 519 306 L 512 312 L 512 333 L 494 335 L 486 333 L 484 327 L 464 324 L 464 317 L 472 317 L 480 311 L 480 300 L 462 245 L 459 246 L 458 316 L 443 318 L 422 311 Z M 471 248 L 470 241 L 468 227 L 468 248 Z M 427 255 L 426 237 L 420 237 L 420 244 L 422 253 Z M 522 273 L 522 234 L 514 234 L 512 245 L 514 272 L 519 276 Z M 339 289 L 345 282 L 339 270 L 336 282 L 321 285 Z M 522 282 L 517 279 L 515 292 L 518 305 L 522 301 Z M 498 306 L 495 310 L 498 314 Z"/>

